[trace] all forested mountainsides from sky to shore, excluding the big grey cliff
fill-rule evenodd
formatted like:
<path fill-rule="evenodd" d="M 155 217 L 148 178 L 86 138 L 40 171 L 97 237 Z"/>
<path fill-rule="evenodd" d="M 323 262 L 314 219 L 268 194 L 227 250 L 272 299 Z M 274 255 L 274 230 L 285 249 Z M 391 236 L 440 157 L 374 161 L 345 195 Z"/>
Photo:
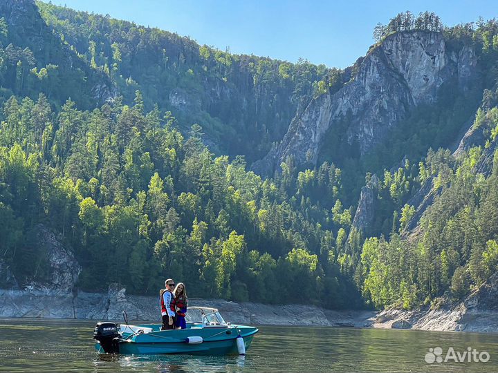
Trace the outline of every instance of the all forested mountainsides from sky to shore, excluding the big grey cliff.
<path fill-rule="evenodd" d="M 315 162 L 289 156 L 266 178 L 252 161 L 364 59 L 340 71 L 232 55 L 27 0 L 1 3 L 0 19 L 0 264 L 21 285 L 50 278 L 40 224 L 74 251 L 86 291 L 156 294 L 173 277 L 192 296 L 414 307 L 496 271 L 497 22 L 378 26 L 370 56 L 426 32 L 477 73 L 366 153 L 339 126 Z"/>

